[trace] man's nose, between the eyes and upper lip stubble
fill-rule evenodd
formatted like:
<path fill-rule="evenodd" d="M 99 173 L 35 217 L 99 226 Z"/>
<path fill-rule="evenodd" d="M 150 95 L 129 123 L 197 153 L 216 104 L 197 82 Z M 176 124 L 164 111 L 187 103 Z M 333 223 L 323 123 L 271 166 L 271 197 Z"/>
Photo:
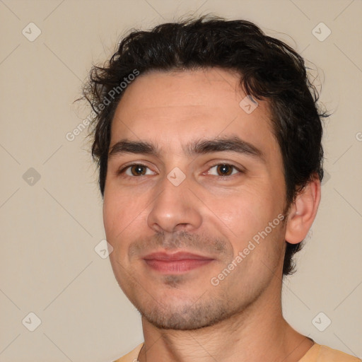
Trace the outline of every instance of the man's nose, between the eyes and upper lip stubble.
<path fill-rule="evenodd" d="M 199 228 L 202 224 L 200 201 L 190 190 L 187 178 L 175 186 L 165 177 L 159 186 L 148 214 L 148 226 L 158 233 L 190 232 Z"/>

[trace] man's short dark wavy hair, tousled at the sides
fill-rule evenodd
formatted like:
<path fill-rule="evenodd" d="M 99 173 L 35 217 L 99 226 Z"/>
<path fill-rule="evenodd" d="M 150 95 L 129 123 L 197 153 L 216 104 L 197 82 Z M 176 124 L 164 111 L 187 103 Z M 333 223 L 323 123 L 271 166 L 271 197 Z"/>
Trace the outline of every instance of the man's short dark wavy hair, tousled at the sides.
<path fill-rule="evenodd" d="M 311 179 L 322 180 L 321 119 L 327 113 L 317 105 L 319 95 L 308 78 L 303 57 L 250 21 L 202 16 L 163 23 L 149 31 L 133 30 L 122 39 L 109 62 L 91 69 L 83 96 L 95 112 L 90 135 L 102 196 L 112 118 L 124 92 L 122 81 L 129 83 L 134 78 L 130 75 L 136 72 L 215 66 L 238 71 L 243 90 L 269 102 L 271 124 L 284 163 L 286 211 Z M 100 107 L 102 104 L 106 106 Z M 293 255 L 301 247 L 302 243 L 286 242 L 284 275 L 293 272 Z"/>

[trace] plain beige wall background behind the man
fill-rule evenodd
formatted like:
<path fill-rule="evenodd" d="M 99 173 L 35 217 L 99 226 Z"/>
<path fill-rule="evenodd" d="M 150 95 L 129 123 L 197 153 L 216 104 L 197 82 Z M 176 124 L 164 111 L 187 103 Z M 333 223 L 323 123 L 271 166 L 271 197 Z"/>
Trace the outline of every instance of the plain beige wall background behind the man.
<path fill-rule="evenodd" d="M 362 356 L 362 1 L 0 0 L 0 361 L 107 362 L 143 340 L 137 311 L 94 250 L 105 233 L 86 131 L 66 134 L 90 112 L 72 103 L 92 62 L 129 28 L 194 11 L 255 21 L 320 69 L 334 112 L 327 178 L 298 271 L 284 283 L 284 313 L 317 342 Z M 36 34 L 30 22 L 42 32 L 33 42 L 22 34 Z M 312 33 L 320 22 L 332 31 L 324 41 Z M 24 180 L 29 168 L 40 180 L 32 170 Z M 34 332 L 30 312 L 41 320 Z M 332 320 L 324 332 L 312 323 L 320 312 Z"/>

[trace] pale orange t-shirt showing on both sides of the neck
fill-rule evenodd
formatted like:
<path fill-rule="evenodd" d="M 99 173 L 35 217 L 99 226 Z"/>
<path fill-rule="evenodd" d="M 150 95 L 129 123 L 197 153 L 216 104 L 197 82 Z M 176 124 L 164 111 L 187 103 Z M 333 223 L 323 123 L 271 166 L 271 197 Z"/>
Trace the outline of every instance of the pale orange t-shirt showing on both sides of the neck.
<path fill-rule="evenodd" d="M 129 352 L 129 354 L 126 354 L 114 362 L 136 362 L 137 357 L 139 356 L 139 351 L 141 351 L 143 345 L 143 343 L 139 344 L 139 346 L 136 346 L 136 348 Z M 344 352 L 337 351 L 337 349 L 332 349 L 315 343 L 299 360 L 299 362 L 361 362 L 361 359 L 345 354 Z"/>

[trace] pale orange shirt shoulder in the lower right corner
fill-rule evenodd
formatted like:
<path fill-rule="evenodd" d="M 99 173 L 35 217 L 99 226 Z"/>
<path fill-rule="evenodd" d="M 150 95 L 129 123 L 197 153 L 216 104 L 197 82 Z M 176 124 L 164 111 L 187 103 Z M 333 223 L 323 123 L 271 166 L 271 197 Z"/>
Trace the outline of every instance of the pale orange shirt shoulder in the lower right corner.
<path fill-rule="evenodd" d="M 314 344 L 299 362 L 361 362 L 361 359 L 328 346 Z"/>

